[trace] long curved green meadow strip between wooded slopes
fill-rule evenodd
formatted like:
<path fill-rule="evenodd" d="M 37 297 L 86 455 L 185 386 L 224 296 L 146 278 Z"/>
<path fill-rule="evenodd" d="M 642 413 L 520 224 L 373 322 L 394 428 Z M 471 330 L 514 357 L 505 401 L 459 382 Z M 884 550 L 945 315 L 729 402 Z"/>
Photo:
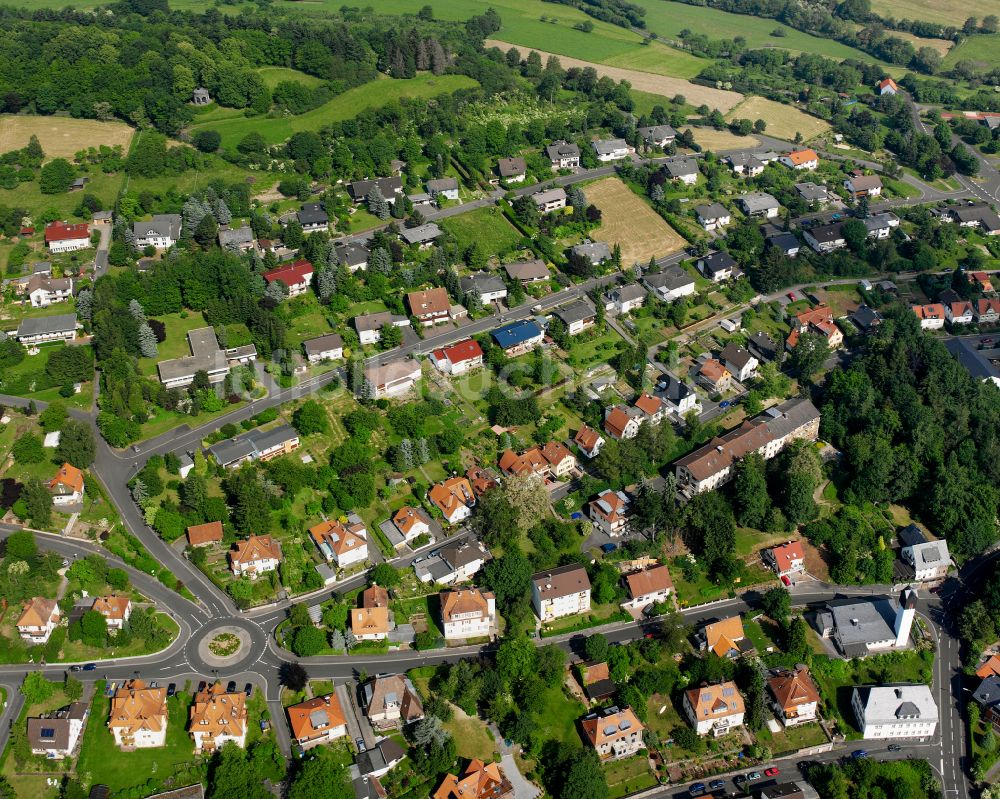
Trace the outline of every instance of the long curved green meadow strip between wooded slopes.
<path fill-rule="evenodd" d="M 405 80 L 384 78 L 349 89 L 319 108 L 296 116 L 248 118 L 242 111 L 218 109 L 203 115 L 191 131 L 217 130 L 222 134 L 222 146 L 227 148 L 235 147 L 251 132 L 259 133 L 268 144 L 278 144 L 293 133 L 319 130 L 331 122 L 350 119 L 366 108 L 383 106 L 402 97 L 434 97 L 476 85 L 472 78 L 465 75 L 421 74 Z"/>

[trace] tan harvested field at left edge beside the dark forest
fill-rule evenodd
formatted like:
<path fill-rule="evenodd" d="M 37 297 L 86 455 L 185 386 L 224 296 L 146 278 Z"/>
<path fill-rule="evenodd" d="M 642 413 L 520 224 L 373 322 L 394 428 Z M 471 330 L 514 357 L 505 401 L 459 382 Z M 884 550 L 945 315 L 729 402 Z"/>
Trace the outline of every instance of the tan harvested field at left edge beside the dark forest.
<path fill-rule="evenodd" d="M 72 158 L 80 150 L 102 144 L 108 147 L 120 144 L 128 151 L 134 132 L 124 122 L 4 114 L 0 116 L 0 153 L 25 147 L 32 135 L 38 137 L 46 160 Z"/>

